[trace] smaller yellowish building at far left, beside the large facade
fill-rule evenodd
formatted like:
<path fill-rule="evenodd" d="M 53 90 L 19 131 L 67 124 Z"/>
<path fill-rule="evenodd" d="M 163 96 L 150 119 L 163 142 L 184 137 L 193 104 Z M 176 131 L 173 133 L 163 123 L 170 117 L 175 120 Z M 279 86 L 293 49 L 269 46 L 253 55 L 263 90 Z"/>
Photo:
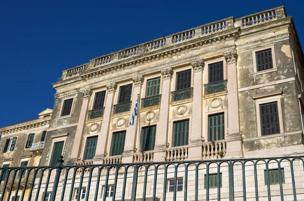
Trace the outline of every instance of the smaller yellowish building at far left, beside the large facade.
<path fill-rule="evenodd" d="M 39 166 L 52 112 L 52 109 L 47 108 L 38 114 L 39 118 L 37 119 L 0 128 L 0 135 L 2 136 L 0 141 L 1 167 Z M 17 183 L 21 177 L 20 186 L 18 187 L 20 193 L 18 192 L 16 198 L 16 200 L 19 201 L 21 192 L 24 188 L 25 175 L 26 173 L 19 171 L 16 173 L 15 179 L 13 179 L 13 171 L 10 174 L 9 172 L 4 173 L 2 181 L 5 181 L 6 178 L 9 177 L 6 184 L 6 190 L 9 191 L 10 188 L 12 189 L 9 200 L 14 198 L 17 190 Z M 27 199 L 28 197 L 32 177 L 33 175 L 29 175 L 24 199 Z M 2 182 L 0 192 L 3 192 L 4 185 L 5 182 Z M 6 196 L 8 195 L 7 193 L 5 194 Z M 0 197 L 2 197 L 2 194 L 0 194 Z"/>

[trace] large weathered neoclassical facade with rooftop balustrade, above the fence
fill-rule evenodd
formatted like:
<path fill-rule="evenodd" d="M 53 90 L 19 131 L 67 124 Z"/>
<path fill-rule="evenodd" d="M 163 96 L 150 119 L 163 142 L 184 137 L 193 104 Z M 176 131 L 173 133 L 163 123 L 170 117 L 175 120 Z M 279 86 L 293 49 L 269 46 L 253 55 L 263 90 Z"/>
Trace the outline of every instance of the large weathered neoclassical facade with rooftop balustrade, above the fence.
<path fill-rule="evenodd" d="M 304 153 L 303 53 L 284 7 L 91 59 L 53 86 L 44 166 Z"/>

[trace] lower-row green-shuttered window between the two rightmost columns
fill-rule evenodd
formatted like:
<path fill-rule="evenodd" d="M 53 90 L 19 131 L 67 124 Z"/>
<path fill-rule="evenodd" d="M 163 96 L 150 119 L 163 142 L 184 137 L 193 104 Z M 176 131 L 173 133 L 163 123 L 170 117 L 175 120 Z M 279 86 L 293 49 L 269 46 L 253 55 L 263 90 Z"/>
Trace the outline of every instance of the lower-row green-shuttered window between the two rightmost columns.
<path fill-rule="evenodd" d="M 225 137 L 224 113 L 208 116 L 208 141 L 223 140 Z"/>

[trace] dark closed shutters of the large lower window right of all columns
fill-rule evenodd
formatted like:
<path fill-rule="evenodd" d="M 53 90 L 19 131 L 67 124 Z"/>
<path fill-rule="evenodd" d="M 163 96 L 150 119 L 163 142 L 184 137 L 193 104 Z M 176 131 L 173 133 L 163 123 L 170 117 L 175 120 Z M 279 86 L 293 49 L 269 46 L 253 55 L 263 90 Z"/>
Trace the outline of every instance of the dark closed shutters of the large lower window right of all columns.
<path fill-rule="evenodd" d="M 259 105 L 261 135 L 280 133 L 278 102 Z"/>

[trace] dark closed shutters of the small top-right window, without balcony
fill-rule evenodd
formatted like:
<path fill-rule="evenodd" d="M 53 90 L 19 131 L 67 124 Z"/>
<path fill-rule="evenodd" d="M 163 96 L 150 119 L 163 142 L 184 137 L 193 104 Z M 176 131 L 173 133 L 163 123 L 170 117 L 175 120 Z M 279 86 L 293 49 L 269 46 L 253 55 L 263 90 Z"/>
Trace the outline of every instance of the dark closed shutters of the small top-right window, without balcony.
<path fill-rule="evenodd" d="M 262 71 L 273 68 L 272 51 L 271 48 L 255 52 L 256 71 Z"/>

